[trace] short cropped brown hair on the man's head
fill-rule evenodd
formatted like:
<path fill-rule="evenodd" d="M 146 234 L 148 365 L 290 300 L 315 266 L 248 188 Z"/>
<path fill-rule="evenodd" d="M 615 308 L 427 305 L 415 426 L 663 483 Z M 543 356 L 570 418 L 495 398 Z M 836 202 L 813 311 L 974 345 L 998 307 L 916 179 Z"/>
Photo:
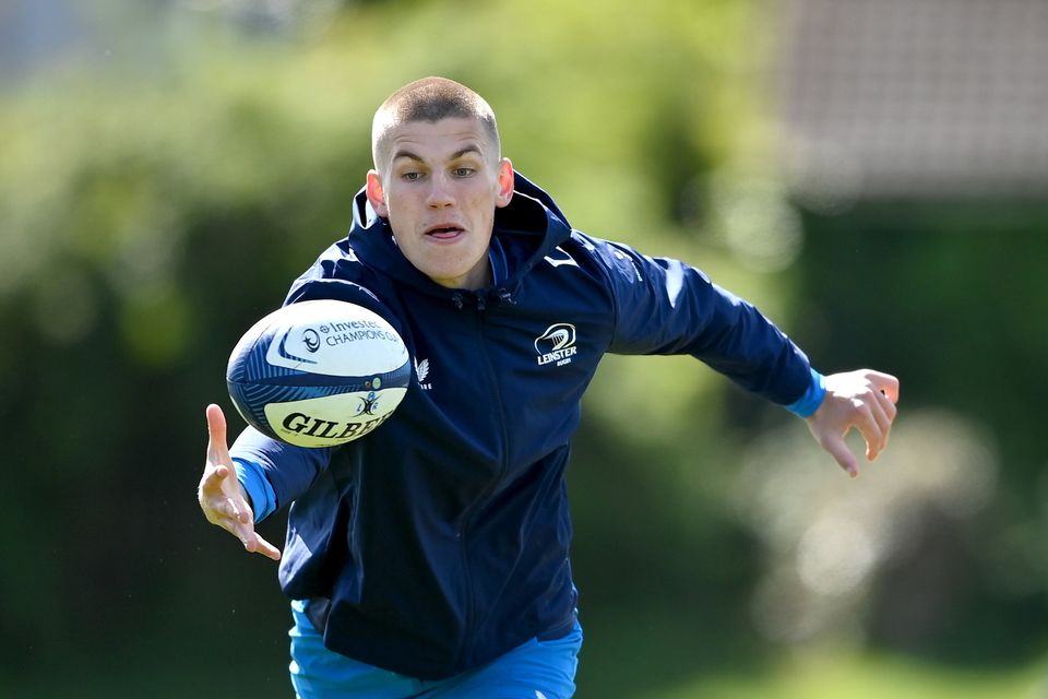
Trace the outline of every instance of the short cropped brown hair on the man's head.
<path fill-rule="evenodd" d="M 371 122 L 371 158 L 376 169 L 379 168 L 380 153 L 385 146 L 390 129 L 412 121 L 436 123 L 449 118 L 480 121 L 491 138 L 496 155 L 501 155 L 502 143 L 491 105 L 462 83 L 431 76 L 404 85 L 386 97 L 374 112 Z"/>

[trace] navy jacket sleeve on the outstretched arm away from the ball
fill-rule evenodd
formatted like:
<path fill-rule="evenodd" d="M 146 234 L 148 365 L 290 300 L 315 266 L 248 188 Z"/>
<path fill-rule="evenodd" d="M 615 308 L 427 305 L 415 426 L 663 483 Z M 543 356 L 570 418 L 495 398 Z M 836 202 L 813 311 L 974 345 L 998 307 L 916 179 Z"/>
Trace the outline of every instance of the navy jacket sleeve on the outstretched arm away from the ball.
<path fill-rule="evenodd" d="M 610 352 L 690 354 L 779 405 L 807 408 L 812 402 L 821 377 L 805 353 L 751 304 L 679 260 L 651 258 L 621 244 L 592 242 L 608 271 L 615 303 Z"/>

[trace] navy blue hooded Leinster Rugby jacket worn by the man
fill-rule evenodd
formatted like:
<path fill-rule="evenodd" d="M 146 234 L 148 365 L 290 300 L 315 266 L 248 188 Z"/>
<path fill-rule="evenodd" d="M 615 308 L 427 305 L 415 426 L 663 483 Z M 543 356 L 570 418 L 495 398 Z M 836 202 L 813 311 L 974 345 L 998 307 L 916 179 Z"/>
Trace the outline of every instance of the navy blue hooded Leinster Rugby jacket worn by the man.
<path fill-rule="evenodd" d="M 389 319 L 416 366 L 407 394 L 344 447 L 249 429 L 233 449 L 290 505 L 281 584 L 331 600 L 324 644 L 419 678 L 573 624 L 564 467 L 605 353 L 691 354 L 784 405 L 812 382 L 752 306 L 682 262 L 573 230 L 523 177 L 495 236 L 496 284 L 449 289 L 412 266 L 358 194 L 348 237 L 287 303 L 337 298 Z"/>

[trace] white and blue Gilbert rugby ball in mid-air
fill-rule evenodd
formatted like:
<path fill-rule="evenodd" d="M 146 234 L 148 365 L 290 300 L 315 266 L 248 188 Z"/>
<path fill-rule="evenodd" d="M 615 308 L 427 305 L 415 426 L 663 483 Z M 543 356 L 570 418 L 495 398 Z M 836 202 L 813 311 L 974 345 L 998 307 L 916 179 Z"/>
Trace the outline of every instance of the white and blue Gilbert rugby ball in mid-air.
<path fill-rule="evenodd" d="M 335 447 L 381 425 L 407 392 L 404 341 L 378 313 L 346 301 L 301 301 L 248 330 L 226 383 L 255 429 L 297 447 Z"/>

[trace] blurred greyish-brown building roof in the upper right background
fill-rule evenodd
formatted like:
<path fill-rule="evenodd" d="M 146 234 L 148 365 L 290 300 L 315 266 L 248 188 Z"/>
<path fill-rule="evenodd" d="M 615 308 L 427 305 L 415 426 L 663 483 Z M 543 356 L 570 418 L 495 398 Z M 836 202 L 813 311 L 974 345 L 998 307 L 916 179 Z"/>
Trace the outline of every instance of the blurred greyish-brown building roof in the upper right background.
<path fill-rule="evenodd" d="M 784 4 L 775 76 L 796 190 L 1048 197 L 1048 1 Z"/>

